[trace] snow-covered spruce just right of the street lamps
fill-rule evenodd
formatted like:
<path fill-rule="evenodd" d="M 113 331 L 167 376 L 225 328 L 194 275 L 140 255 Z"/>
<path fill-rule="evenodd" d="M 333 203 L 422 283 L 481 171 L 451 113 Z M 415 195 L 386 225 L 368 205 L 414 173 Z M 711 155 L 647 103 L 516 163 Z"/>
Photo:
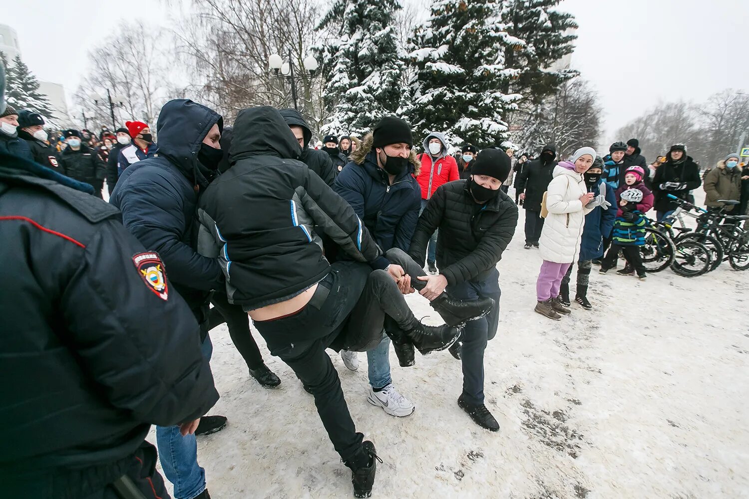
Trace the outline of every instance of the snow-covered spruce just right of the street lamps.
<path fill-rule="evenodd" d="M 333 109 L 323 132 L 363 135 L 398 110 L 404 69 L 393 13 L 396 0 L 336 0 L 318 29 L 330 34 L 320 50 L 325 96 Z"/>

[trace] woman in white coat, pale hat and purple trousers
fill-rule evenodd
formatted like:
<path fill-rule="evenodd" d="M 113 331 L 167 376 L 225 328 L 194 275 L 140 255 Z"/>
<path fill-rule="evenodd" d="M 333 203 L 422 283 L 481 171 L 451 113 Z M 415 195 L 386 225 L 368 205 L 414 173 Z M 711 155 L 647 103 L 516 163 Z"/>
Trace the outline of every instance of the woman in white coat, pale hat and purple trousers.
<path fill-rule="evenodd" d="M 583 174 L 593 164 L 595 150 L 580 147 L 570 162 L 560 162 L 554 167 L 554 179 L 546 192 L 548 215 L 539 240 L 544 263 L 536 281 L 536 312 L 550 319 L 559 320 L 560 313 L 570 310 L 560 302 L 562 278 L 569 266 L 580 254 L 580 239 L 583 235 L 585 215 L 593 206 L 593 199 L 585 186 Z"/>

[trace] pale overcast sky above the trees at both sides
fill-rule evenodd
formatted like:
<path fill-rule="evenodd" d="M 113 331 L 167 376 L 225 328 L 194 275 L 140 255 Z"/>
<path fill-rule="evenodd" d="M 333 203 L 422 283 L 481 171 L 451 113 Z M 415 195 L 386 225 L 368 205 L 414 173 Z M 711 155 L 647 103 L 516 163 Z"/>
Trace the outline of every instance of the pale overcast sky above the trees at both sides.
<path fill-rule="evenodd" d="M 113 1 L 66 5 L 16 1 L 3 9 L 0 22 L 17 31 L 31 70 L 65 85 L 69 96 L 85 75 L 87 51 L 107 43 L 121 19 L 143 19 L 158 29 L 174 17 L 152 0 L 140 9 L 128 4 L 124 14 Z M 749 0 L 562 0 L 560 10 L 573 13 L 580 25 L 572 65 L 601 96 L 606 140 L 659 101 L 699 102 L 724 88 L 749 92 L 749 51 L 741 31 Z"/>

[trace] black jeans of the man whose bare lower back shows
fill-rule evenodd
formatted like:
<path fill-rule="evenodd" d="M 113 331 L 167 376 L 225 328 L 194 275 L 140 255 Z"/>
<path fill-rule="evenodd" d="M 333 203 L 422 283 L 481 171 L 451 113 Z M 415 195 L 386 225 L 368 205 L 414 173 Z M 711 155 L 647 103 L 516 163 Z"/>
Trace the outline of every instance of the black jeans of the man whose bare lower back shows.
<path fill-rule="evenodd" d="M 327 293 L 327 297 L 319 302 L 313 297 L 291 316 L 255 321 L 255 327 L 271 355 L 288 364 L 312 391 L 333 447 L 349 462 L 363 456 L 363 435 L 354 427 L 338 373 L 325 349 L 373 349 L 382 340 L 386 315 L 405 329 L 413 327 L 416 319 L 387 272 L 373 272 L 363 263 L 333 263 L 317 293 Z"/>

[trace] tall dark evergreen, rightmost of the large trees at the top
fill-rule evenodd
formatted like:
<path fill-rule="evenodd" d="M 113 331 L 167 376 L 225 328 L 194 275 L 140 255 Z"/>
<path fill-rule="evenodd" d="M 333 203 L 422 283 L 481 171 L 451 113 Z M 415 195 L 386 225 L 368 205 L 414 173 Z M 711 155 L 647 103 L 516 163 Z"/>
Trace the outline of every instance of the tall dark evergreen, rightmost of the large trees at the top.
<path fill-rule="evenodd" d="M 554 63 L 574 50 L 577 39 L 574 16 L 555 9 L 561 0 L 505 0 L 502 22 L 518 43 L 505 46 L 508 67 L 517 67 L 517 79 L 504 82 L 505 94 L 517 92 L 527 102 L 539 104 L 554 95 L 577 71 L 555 68 Z"/>

